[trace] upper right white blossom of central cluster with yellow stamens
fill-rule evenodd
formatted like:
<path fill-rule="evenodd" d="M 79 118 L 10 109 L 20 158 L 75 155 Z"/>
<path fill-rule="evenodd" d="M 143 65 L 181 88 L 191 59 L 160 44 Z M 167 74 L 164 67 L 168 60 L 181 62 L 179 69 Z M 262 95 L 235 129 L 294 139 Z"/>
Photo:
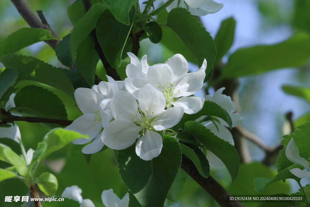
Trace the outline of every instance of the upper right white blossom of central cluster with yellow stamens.
<path fill-rule="evenodd" d="M 185 58 L 176 54 L 164 64 L 148 66 L 146 56 L 141 62 L 132 53 L 127 53 L 131 58 L 131 64 L 126 67 L 127 77 L 125 88 L 135 98 L 139 90 L 146 84 L 158 87 L 165 96 L 166 108 L 179 106 L 184 108 L 187 114 L 195 114 L 201 110 L 204 98 L 187 97 L 199 91 L 205 79 L 206 60 L 199 70 L 188 72 L 188 63 Z"/>

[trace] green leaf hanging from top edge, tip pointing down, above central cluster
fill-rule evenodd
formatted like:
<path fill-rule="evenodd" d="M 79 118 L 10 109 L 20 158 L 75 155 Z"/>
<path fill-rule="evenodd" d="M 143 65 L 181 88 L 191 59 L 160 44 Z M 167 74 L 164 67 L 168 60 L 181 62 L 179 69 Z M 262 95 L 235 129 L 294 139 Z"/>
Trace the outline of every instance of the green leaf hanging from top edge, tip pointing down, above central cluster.
<path fill-rule="evenodd" d="M 105 0 L 104 3 L 112 12 L 113 16 L 125 25 L 131 25 L 131 15 L 129 10 L 138 0 Z"/>

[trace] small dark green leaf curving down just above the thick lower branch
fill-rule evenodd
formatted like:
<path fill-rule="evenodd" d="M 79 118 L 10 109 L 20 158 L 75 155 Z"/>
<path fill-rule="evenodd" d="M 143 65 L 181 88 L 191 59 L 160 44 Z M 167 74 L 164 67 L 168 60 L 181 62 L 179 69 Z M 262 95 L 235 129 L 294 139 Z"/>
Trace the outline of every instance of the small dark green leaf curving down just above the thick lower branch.
<path fill-rule="evenodd" d="M 180 143 L 182 154 L 188 156 L 190 160 L 195 164 L 198 172 L 201 176 L 207 178 L 210 174 L 209 162 L 206 159 L 206 155 L 197 146 L 186 146 Z"/>

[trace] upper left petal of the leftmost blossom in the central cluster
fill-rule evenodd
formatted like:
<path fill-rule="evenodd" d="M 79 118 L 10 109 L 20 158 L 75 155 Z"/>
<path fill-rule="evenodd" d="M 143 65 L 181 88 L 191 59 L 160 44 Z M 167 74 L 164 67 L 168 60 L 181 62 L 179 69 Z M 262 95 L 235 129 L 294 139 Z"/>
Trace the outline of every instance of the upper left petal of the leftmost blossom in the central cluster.
<path fill-rule="evenodd" d="M 103 96 L 90 88 L 77 88 L 74 92 L 75 101 L 83 114 L 91 114 L 99 109 Z"/>

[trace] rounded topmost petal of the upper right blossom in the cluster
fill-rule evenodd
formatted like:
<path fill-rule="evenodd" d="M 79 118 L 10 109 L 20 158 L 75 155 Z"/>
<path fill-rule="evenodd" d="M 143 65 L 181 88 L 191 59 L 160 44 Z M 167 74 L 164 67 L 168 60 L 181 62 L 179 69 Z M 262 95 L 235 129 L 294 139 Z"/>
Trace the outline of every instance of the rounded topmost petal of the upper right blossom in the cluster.
<path fill-rule="evenodd" d="M 170 82 L 182 78 L 188 72 L 188 63 L 181 54 L 170 57 L 165 63 L 170 65 L 172 69 L 172 80 L 170 80 Z"/>

